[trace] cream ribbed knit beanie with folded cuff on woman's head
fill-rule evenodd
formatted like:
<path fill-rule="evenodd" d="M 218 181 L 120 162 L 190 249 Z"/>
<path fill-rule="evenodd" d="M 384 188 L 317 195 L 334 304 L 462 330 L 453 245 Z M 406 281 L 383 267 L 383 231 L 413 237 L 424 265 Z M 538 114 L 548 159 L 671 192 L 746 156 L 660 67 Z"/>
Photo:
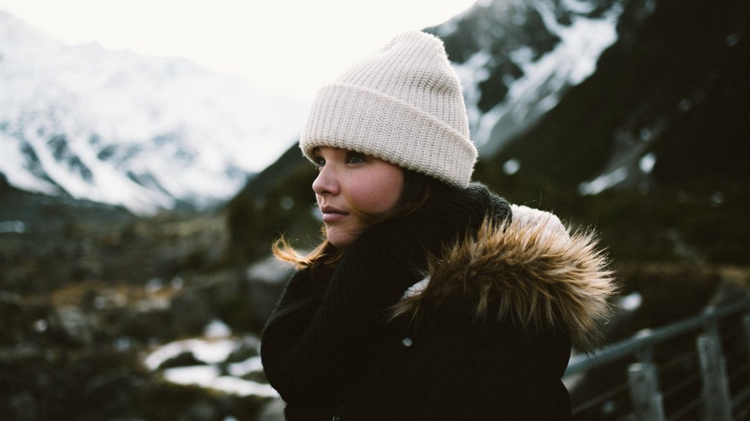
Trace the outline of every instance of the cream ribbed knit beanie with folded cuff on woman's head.
<path fill-rule="evenodd" d="M 405 32 L 321 88 L 299 141 L 310 160 L 317 146 L 358 151 L 466 187 L 477 152 L 443 41 Z"/>

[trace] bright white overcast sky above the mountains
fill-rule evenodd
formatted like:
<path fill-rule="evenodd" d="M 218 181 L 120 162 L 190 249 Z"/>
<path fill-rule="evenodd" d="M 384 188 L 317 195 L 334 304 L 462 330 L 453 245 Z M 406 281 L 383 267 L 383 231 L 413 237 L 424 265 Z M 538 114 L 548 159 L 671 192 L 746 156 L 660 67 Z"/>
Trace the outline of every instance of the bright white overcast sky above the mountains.
<path fill-rule="evenodd" d="M 299 94 L 408 29 L 475 0 L 0 0 L 0 10 L 68 44 L 181 56 L 254 85 Z"/>

